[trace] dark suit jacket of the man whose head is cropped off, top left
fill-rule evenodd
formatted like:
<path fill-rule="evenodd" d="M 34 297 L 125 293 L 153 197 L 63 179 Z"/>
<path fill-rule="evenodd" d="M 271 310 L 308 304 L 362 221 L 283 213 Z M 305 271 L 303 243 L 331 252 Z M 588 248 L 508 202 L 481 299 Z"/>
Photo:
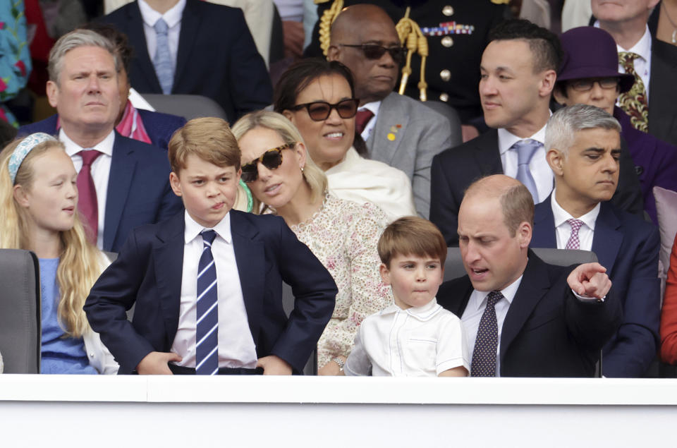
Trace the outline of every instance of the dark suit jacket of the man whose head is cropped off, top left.
<path fill-rule="evenodd" d="M 139 93 L 162 93 L 148 54 L 143 19 L 136 1 L 100 18 L 129 38 L 134 49 L 129 79 Z M 266 64 L 257 52 L 239 8 L 187 0 L 181 16 L 172 93 L 214 99 L 233 123 L 272 102 Z"/>

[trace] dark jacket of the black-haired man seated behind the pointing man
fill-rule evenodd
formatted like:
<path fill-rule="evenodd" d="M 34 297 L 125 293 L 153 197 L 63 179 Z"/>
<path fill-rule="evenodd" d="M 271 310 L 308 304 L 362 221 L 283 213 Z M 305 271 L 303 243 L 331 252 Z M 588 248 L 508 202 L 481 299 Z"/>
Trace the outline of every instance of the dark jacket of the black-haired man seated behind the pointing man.
<path fill-rule="evenodd" d="M 465 189 L 473 181 L 490 174 L 503 174 L 496 129 L 444 150 L 432 159 L 430 221 L 439 227 L 447 246 L 458 246 L 458 208 Z M 635 214 L 644 212 L 640 182 L 627 148 L 621 151 L 621 173 L 611 201 L 621 210 Z"/>

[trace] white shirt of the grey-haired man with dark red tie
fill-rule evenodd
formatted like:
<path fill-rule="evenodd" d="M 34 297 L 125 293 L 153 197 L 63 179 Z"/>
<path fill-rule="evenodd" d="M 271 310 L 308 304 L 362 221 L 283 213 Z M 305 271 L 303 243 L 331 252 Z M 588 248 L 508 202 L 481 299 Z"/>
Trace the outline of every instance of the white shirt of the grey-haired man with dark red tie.
<path fill-rule="evenodd" d="M 106 198 L 108 196 L 108 179 L 111 174 L 111 161 L 113 159 L 113 145 L 115 143 L 115 132 L 111 131 L 106 135 L 104 140 L 94 145 L 94 147 L 81 147 L 78 143 L 68 138 L 68 135 L 59 130 L 59 140 L 63 142 L 66 147 L 66 154 L 73 160 L 75 171 L 80 173 L 83 167 L 83 157 L 78 154 L 82 150 L 97 150 L 102 153 L 92 162 L 90 172 L 92 173 L 92 181 L 94 181 L 94 190 L 97 192 L 97 212 L 99 213 L 98 233 L 97 233 L 97 248 L 103 250 L 104 248 L 104 225 L 106 224 Z"/>

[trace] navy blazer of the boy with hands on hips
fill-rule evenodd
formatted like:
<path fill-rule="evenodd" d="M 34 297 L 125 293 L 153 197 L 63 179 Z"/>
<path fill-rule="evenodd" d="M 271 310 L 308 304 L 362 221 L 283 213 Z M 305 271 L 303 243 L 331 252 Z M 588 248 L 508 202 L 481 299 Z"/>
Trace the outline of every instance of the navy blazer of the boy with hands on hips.
<path fill-rule="evenodd" d="M 334 279 L 280 217 L 230 214 L 257 356 L 279 356 L 300 373 L 334 312 Z M 182 212 L 132 231 L 87 297 L 87 319 L 120 364 L 118 373 L 132 373 L 151 351 L 171 349 L 181 300 L 184 229 Z M 288 318 L 282 281 L 295 296 Z M 129 322 L 126 310 L 134 304 Z"/>

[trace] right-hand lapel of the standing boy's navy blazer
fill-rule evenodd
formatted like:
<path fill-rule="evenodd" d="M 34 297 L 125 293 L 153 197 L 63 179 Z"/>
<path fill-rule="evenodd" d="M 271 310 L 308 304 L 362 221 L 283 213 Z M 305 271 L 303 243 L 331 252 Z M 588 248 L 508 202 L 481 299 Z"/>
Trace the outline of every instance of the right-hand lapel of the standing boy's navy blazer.
<path fill-rule="evenodd" d="M 263 315 L 265 281 L 263 278 L 252 277 L 252 274 L 266 272 L 264 243 L 254 239 L 258 230 L 245 220 L 243 214 L 235 210 L 231 210 L 230 213 L 233 250 L 238 265 L 242 296 L 247 310 L 249 329 L 254 342 L 257 343 Z"/>

